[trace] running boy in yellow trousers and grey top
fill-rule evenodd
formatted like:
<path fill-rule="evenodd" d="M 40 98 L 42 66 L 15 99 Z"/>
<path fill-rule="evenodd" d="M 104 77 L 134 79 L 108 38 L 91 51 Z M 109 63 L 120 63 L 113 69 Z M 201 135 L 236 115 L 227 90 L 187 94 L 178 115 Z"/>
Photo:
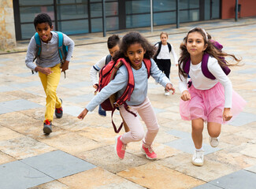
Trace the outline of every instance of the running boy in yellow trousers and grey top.
<path fill-rule="evenodd" d="M 56 89 L 61 78 L 61 72 L 69 69 L 69 61 L 72 56 L 75 43 L 67 35 L 63 35 L 63 45 L 68 46 L 68 52 L 61 60 L 58 51 L 57 32 L 52 31 L 52 21 L 46 13 L 40 13 L 34 20 L 35 35 L 39 35 L 40 46 L 37 44 L 35 35 L 30 40 L 26 55 L 26 65 L 32 71 L 39 72 L 39 78 L 46 93 L 46 113 L 43 121 L 43 132 L 49 135 L 52 132 L 52 120 L 55 116 L 61 118 L 63 115 L 62 101 L 56 94 Z M 40 53 L 38 55 L 38 51 Z M 36 57 L 35 64 L 33 59 Z M 62 62 L 62 64 L 61 64 Z"/>

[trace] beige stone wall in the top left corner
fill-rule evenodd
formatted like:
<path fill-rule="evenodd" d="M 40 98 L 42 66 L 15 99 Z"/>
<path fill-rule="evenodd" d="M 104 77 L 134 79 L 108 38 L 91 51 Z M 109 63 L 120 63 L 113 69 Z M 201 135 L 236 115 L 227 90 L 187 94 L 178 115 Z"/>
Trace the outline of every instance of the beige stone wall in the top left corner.
<path fill-rule="evenodd" d="M 9 50 L 16 46 L 13 16 L 13 1 L 0 0 L 0 49 Z"/>

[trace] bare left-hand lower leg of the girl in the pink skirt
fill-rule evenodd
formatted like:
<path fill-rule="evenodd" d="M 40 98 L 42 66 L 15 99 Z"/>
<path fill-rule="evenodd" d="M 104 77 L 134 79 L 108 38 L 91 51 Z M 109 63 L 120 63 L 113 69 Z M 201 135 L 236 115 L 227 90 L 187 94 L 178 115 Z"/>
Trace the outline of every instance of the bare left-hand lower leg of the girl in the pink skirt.
<path fill-rule="evenodd" d="M 203 120 L 201 118 L 191 120 L 192 124 L 192 139 L 196 149 L 202 148 L 202 130 Z"/>

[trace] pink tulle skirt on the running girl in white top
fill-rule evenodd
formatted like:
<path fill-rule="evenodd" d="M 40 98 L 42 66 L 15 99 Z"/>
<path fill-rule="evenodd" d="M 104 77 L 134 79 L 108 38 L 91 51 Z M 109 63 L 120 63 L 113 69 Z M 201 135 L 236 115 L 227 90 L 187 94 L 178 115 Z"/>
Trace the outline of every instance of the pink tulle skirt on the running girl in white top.
<path fill-rule="evenodd" d="M 180 100 L 180 116 L 183 120 L 195 120 L 202 118 L 207 122 L 214 122 L 224 124 L 222 114 L 224 110 L 224 87 L 221 83 L 217 83 L 209 90 L 195 89 L 193 84 L 188 88 L 191 94 L 190 101 Z M 247 102 L 236 93 L 232 91 L 232 119 L 233 120 L 240 112 Z M 228 120 L 229 122 L 230 120 Z"/>

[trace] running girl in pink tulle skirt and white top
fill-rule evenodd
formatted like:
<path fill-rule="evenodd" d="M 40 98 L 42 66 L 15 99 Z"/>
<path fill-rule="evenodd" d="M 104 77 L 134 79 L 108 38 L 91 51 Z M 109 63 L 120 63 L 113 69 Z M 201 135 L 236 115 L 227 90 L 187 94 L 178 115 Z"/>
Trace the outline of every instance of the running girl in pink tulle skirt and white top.
<path fill-rule="evenodd" d="M 188 31 L 184 43 L 180 45 L 180 116 L 183 120 L 191 120 L 192 139 L 195 144 L 193 165 L 203 165 L 204 121 L 207 122 L 210 145 L 216 147 L 221 124 L 236 117 L 246 105 L 243 98 L 232 90 L 232 83 L 227 76 L 230 64 L 224 57 L 232 57 L 236 64 L 240 60 L 232 54 L 224 53 L 221 48 L 202 28 Z M 189 85 L 188 76 L 191 77 Z"/>

